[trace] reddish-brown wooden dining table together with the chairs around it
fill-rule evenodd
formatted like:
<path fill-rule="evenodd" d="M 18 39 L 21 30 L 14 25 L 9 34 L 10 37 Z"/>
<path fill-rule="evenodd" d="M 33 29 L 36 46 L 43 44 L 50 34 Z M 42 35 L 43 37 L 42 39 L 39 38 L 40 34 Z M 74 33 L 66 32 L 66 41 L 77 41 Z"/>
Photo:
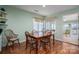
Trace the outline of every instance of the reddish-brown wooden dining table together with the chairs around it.
<path fill-rule="evenodd" d="M 33 49 L 35 49 L 35 53 L 38 54 L 38 51 L 40 48 L 43 48 L 44 50 L 47 50 L 49 48 L 49 51 L 51 52 L 52 46 L 54 46 L 54 34 L 52 34 L 51 31 L 46 32 L 40 32 L 38 31 L 32 31 L 32 33 L 25 32 L 26 36 L 26 49 L 28 48 L 28 45 L 30 46 L 30 53 Z"/>

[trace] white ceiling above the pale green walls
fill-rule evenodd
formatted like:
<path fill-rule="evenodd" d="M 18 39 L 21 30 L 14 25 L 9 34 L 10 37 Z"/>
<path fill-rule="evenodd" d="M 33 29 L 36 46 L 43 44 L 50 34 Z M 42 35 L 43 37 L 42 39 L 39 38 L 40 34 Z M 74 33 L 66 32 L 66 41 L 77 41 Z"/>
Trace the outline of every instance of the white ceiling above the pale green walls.
<path fill-rule="evenodd" d="M 64 10 L 76 8 L 77 5 L 46 5 L 46 7 L 43 7 L 42 5 L 14 5 L 14 7 L 47 16 Z"/>

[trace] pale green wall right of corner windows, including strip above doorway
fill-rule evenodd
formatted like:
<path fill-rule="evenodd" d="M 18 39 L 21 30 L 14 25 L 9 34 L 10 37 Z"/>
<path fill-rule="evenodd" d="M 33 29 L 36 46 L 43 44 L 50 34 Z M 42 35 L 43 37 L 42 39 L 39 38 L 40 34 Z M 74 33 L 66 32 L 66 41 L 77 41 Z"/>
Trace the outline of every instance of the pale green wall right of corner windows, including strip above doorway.
<path fill-rule="evenodd" d="M 63 25 L 64 25 L 64 22 L 63 22 L 63 18 L 62 17 L 64 15 L 69 15 L 69 14 L 74 14 L 74 13 L 79 13 L 79 7 L 76 7 L 74 9 L 70 9 L 70 10 L 65 10 L 65 11 L 62 11 L 62 12 L 59 12 L 59 13 L 55 13 L 55 14 L 52 14 L 52 15 L 48 16 L 48 17 L 53 16 L 53 17 L 56 17 L 56 19 L 57 19 L 56 20 L 56 34 L 55 34 L 56 40 L 63 41 L 63 33 L 64 33 Z M 71 42 L 71 43 L 73 43 L 73 42 Z M 77 45 L 79 45 L 78 39 L 77 39 L 77 41 L 74 42 L 74 44 L 75 43 Z"/>

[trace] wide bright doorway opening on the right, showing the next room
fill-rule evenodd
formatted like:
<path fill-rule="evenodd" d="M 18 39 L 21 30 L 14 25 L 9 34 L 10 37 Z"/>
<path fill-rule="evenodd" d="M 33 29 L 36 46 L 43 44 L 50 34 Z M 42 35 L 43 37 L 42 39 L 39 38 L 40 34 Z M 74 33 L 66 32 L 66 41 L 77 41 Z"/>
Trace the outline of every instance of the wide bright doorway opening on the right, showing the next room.
<path fill-rule="evenodd" d="M 78 42 L 78 14 L 70 14 L 63 16 L 64 20 L 64 41 L 79 45 Z"/>

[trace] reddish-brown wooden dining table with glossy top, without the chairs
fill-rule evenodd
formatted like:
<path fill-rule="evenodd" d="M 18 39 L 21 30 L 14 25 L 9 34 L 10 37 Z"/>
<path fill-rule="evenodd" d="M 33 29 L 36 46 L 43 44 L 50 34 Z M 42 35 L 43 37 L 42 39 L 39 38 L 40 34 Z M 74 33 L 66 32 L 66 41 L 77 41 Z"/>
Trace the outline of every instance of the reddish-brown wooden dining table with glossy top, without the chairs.
<path fill-rule="evenodd" d="M 48 34 L 48 35 L 43 35 L 43 34 L 30 34 L 29 37 L 32 37 L 33 39 L 36 39 L 36 54 L 38 54 L 38 45 L 39 45 L 39 42 L 40 40 L 45 37 L 45 36 L 53 36 L 53 44 L 54 44 L 54 41 L 55 41 L 55 35 L 54 34 Z"/>

